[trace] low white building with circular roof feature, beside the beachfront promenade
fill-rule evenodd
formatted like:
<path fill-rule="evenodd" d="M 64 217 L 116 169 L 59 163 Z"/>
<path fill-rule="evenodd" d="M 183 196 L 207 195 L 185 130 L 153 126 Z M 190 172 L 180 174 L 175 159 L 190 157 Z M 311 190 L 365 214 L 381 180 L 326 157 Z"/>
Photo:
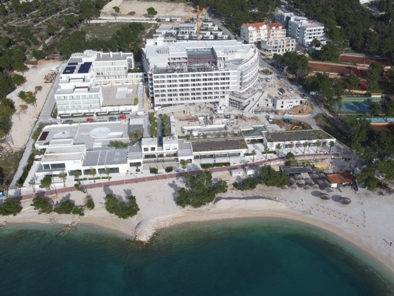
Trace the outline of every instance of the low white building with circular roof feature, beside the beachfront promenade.
<path fill-rule="evenodd" d="M 34 143 L 35 149 L 45 149 L 41 159 L 35 161 L 34 175 L 73 176 L 76 171 L 89 175 L 90 170 L 105 174 L 105 169 L 126 174 L 128 131 L 126 121 L 45 126 Z M 114 141 L 125 143 L 125 147 L 116 149 Z"/>

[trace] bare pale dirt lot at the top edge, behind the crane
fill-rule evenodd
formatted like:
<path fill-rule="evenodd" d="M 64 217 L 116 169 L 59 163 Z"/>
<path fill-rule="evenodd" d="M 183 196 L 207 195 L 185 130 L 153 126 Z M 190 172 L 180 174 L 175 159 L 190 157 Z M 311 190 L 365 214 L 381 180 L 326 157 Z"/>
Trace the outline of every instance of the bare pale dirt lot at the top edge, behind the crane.
<path fill-rule="evenodd" d="M 157 16 L 187 16 L 193 13 L 194 8 L 186 3 L 173 3 L 165 1 L 137 1 L 137 0 L 113 0 L 109 2 L 101 11 L 102 16 L 113 15 L 112 7 L 121 9 L 119 15 L 146 16 L 147 9 L 153 7 L 157 11 Z M 130 14 L 130 12 L 135 14 Z"/>

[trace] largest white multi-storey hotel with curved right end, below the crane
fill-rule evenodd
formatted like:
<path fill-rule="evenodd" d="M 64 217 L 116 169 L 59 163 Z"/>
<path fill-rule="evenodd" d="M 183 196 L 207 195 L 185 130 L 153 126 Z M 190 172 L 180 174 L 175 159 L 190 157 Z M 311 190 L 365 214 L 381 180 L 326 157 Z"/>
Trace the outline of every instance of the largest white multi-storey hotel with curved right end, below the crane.
<path fill-rule="evenodd" d="M 259 71 L 257 48 L 235 40 L 170 44 L 147 40 L 142 57 L 155 106 L 228 105 L 229 93 L 246 91 Z"/>

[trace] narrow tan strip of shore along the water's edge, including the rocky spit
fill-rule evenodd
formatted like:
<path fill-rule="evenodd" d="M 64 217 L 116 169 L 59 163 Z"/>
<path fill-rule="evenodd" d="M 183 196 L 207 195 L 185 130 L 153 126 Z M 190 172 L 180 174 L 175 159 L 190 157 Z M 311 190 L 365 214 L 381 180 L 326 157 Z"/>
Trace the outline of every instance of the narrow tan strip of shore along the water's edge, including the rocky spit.
<path fill-rule="evenodd" d="M 42 216 L 44 217 L 44 216 Z M 85 216 L 84 216 L 85 217 Z M 37 217 L 38 218 L 38 217 Z M 367 256 L 368 259 L 373 260 L 378 266 L 375 266 L 379 269 L 379 271 L 383 271 L 384 275 L 386 275 L 390 279 L 394 279 L 394 266 L 393 264 L 387 262 L 382 256 L 382 254 L 376 252 L 371 247 L 366 245 L 360 239 L 352 237 L 349 233 L 333 226 L 331 224 L 323 224 L 322 221 L 319 221 L 316 218 L 301 216 L 299 213 L 290 213 L 285 211 L 264 211 L 261 212 L 259 210 L 242 210 L 239 211 L 216 211 L 216 213 L 210 213 L 209 215 L 204 215 L 204 213 L 194 213 L 194 214 L 183 214 L 183 215 L 172 215 L 166 217 L 157 217 L 150 221 L 150 224 L 145 227 L 144 232 L 140 235 L 143 237 L 138 237 L 139 234 L 136 233 L 139 231 L 140 223 L 137 223 L 135 229 L 129 229 L 121 227 L 121 222 L 123 219 L 117 218 L 115 216 L 110 217 L 114 218 L 114 221 L 111 223 L 105 223 L 107 220 L 99 219 L 97 220 L 94 216 L 87 216 L 85 219 L 81 219 L 79 221 L 62 219 L 56 220 L 54 222 L 50 222 L 44 219 L 34 219 L 34 218 L 24 218 L 22 220 L 12 220 L 7 222 L 7 225 L 18 225 L 18 224 L 36 224 L 36 225 L 47 225 L 47 226 L 64 226 L 67 224 L 73 224 L 76 227 L 78 225 L 84 226 L 93 226 L 98 229 L 102 229 L 104 231 L 108 231 L 108 233 L 115 234 L 117 236 L 121 236 L 127 239 L 132 239 L 135 242 L 140 242 L 143 244 L 150 244 L 152 242 L 153 237 L 157 234 L 158 231 L 164 230 L 171 227 L 187 225 L 189 223 L 209 223 L 213 221 L 231 221 L 231 220 L 239 220 L 239 219 L 252 219 L 252 218 L 275 218 L 275 219 L 283 219 L 283 220 L 293 220 L 298 223 L 305 224 L 307 227 L 316 228 L 317 230 L 323 231 L 328 236 L 339 238 L 339 242 L 337 242 L 341 247 L 343 245 L 347 246 L 346 251 L 350 252 L 349 249 L 356 249 L 356 253 Z M 70 221 L 70 223 L 67 223 Z M 124 220 L 124 221 L 127 221 Z M 352 253 L 352 252 L 350 252 Z M 352 254 L 354 255 L 354 254 Z M 356 255 L 356 257 L 359 257 Z M 369 264 L 368 264 L 369 265 Z"/>

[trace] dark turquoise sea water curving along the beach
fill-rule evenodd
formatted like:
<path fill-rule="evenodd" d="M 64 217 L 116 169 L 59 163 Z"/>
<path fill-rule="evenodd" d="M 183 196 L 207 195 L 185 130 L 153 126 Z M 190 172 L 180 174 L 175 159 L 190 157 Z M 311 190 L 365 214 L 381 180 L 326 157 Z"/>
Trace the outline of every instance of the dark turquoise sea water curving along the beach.
<path fill-rule="evenodd" d="M 0 231 L 0 295 L 394 295 L 379 266 L 290 220 L 161 231 L 149 245 L 92 226 Z"/>

